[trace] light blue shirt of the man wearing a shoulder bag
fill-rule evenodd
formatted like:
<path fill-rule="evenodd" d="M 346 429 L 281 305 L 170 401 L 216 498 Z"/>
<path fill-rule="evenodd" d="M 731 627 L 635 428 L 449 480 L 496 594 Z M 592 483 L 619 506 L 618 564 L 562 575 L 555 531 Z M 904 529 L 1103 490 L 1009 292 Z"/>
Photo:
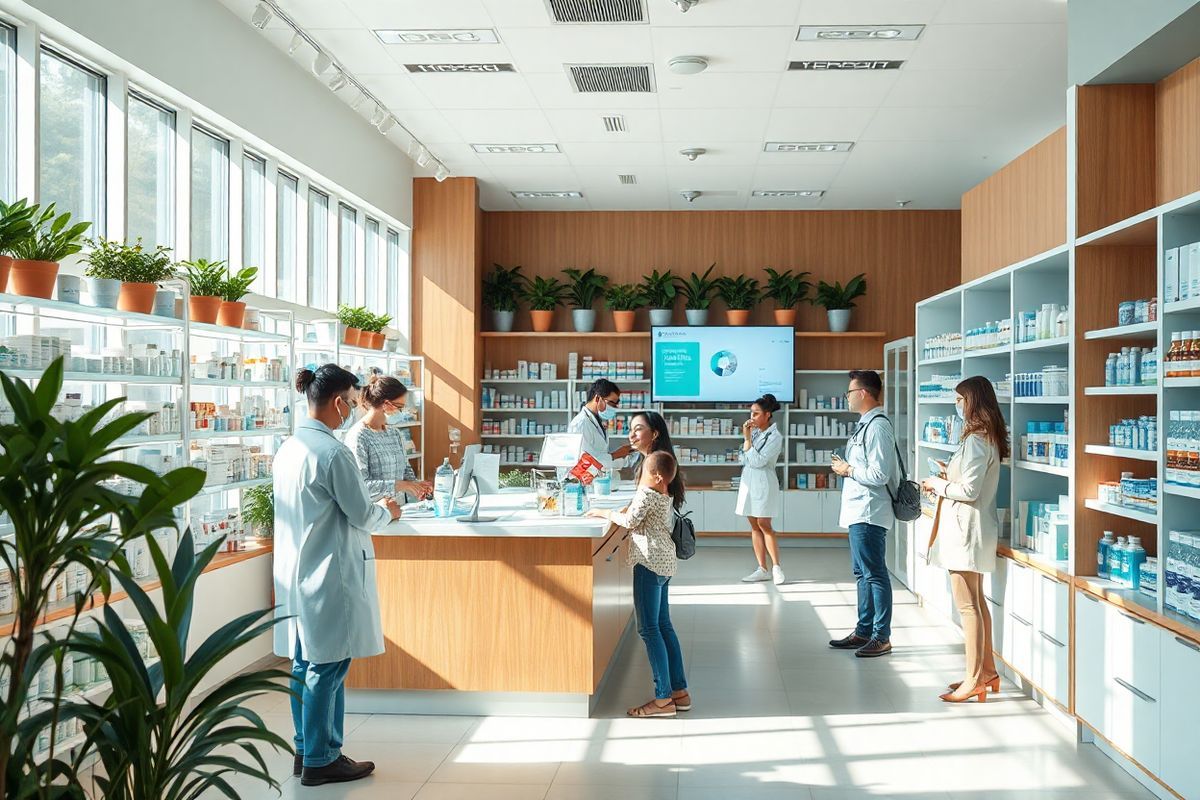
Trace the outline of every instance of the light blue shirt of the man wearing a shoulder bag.
<path fill-rule="evenodd" d="M 892 497 L 888 488 L 899 485 L 900 465 L 896 462 L 895 431 L 892 421 L 882 419 L 883 408 L 872 408 L 858 420 L 858 427 L 846 443 L 846 462 L 851 475 L 841 488 L 841 518 L 839 525 L 850 528 L 865 522 L 881 528 L 892 528 Z"/>

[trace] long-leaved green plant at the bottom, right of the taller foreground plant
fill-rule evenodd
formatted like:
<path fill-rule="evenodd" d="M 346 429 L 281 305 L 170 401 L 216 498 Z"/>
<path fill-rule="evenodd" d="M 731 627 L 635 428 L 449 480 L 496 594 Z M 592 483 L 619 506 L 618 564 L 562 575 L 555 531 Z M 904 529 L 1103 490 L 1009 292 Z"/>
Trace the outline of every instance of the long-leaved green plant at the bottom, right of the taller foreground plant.
<path fill-rule="evenodd" d="M 128 627 L 112 606 L 104 607 L 96 633 L 77 633 L 71 640 L 72 650 L 103 664 L 113 682 L 102 703 L 67 706 L 82 722 L 88 744 L 104 768 L 96 777 L 102 796 L 191 800 L 211 789 L 236 799 L 241 795 L 227 780 L 230 775 L 254 777 L 278 790 L 260 746 L 277 751 L 290 747 L 247 703 L 264 694 L 289 693 L 288 673 L 241 673 L 203 693 L 205 680 L 224 658 L 274 627 L 274 609 L 226 622 L 188 652 L 196 585 L 221 542 L 196 555 L 188 530 L 172 564 L 152 539 L 146 545 L 162 583 L 163 613 L 137 581 L 116 577 L 142 618 L 158 661 L 145 666 Z"/>

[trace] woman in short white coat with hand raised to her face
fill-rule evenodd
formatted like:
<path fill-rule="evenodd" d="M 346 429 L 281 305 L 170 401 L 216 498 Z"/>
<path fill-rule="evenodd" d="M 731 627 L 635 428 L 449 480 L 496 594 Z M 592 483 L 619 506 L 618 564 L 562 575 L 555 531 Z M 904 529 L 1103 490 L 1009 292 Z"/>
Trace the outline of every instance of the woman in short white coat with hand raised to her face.
<path fill-rule="evenodd" d="M 750 419 L 742 426 L 742 483 L 738 486 L 737 513 L 750 521 L 750 542 L 758 569 L 742 578 L 745 583 L 774 581 L 784 583 L 784 565 L 779 561 L 779 542 L 770 518 L 779 513 L 779 475 L 775 464 L 784 451 L 784 437 L 775 427 L 779 401 L 763 395 L 750 405 Z M 767 555 L 772 567 L 767 571 Z"/>

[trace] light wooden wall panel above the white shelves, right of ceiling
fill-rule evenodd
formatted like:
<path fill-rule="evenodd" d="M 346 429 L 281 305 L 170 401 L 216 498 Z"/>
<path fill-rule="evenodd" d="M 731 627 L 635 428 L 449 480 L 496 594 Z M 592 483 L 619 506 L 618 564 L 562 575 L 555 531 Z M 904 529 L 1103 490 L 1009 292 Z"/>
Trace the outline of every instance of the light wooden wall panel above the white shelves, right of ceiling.
<path fill-rule="evenodd" d="M 1067 128 L 962 196 L 962 282 L 1067 241 Z"/>

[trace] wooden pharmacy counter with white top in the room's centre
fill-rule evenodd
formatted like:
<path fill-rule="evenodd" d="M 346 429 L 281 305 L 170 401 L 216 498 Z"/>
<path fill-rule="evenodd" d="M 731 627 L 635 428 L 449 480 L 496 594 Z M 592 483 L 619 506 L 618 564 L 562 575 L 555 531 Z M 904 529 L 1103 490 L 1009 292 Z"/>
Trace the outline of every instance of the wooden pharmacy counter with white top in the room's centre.
<path fill-rule="evenodd" d="M 532 492 L 479 513 L 498 519 L 409 513 L 376 533 L 385 652 L 350 666 L 349 710 L 590 712 L 632 616 L 628 531 L 541 516 Z"/>

